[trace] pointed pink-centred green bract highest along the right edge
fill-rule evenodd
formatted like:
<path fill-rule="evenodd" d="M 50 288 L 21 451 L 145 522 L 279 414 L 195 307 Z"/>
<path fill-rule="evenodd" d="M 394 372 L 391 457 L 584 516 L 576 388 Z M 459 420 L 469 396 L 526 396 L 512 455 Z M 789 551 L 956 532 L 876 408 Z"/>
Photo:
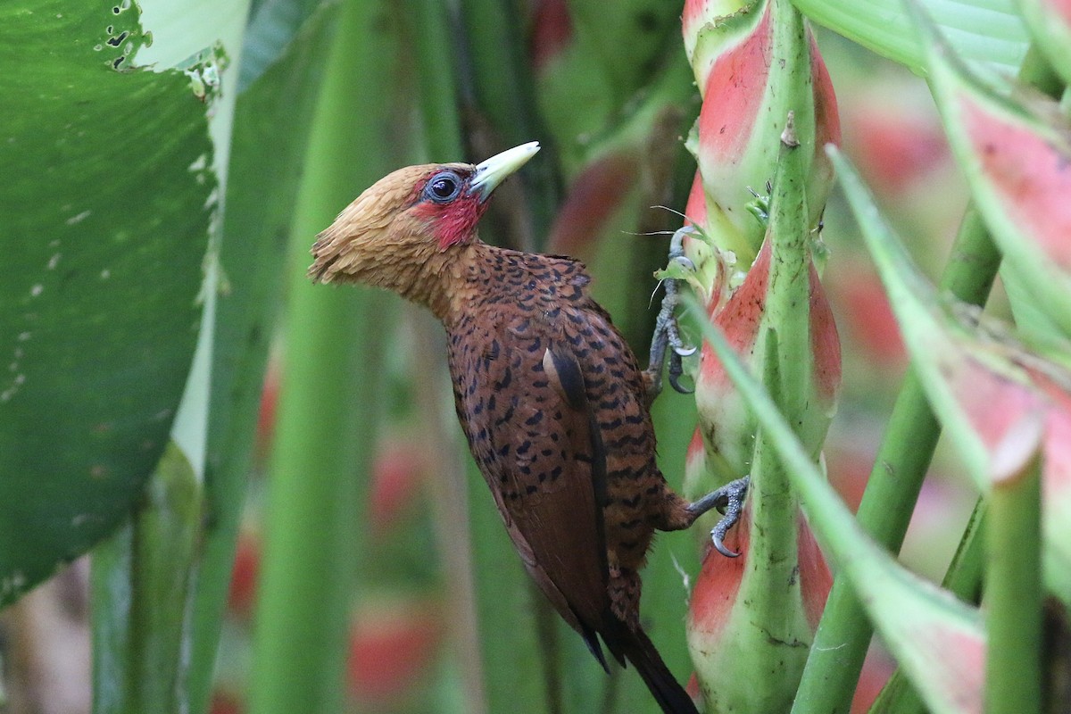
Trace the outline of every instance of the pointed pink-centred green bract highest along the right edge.
<path fill-rule="evenodd" d="M 1052 14 L 1052 22 L 1058 18 Z M 929 22 L 932 88 L 953 154 L 1004 256 L 1022 334 L 1071 337 L 1071 122 L 1031 88 L 968 69 Z"/>

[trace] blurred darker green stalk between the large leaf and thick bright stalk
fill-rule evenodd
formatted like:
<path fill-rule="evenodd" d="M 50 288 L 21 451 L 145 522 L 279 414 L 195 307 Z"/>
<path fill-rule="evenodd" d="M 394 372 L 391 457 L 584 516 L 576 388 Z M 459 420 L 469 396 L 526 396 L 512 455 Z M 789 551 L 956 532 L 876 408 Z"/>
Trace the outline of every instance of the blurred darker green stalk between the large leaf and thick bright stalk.
<path fill-rule="evenodd" d="M 282 303 L 286 245 L 248 238 L 286 234 L 292 223 L 298 177 L 289 168 L 305 154 L 325 59 L 315 48 L 333 35 L 336 10 L 325 5 L 316 11 L 283 56 L 242 92 L 235 108 L 220 245 L 228 289 L 221 291 L 216 303 L 205 513 L 192 605 L 190 702 L 194 714 L 208 711 L 211 699 L 265 365 Z M 246 48 L 267 44 L 256 30 L 245 41 Z M 266 145 L 273 150 L 265 151 Z"/>

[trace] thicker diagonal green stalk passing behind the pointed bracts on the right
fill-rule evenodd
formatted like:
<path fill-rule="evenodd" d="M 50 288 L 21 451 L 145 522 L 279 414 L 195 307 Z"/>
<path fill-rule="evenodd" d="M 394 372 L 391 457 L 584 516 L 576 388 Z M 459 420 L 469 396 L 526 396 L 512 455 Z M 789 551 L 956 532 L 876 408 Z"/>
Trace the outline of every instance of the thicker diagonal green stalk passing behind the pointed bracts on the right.
<path fill-rule="evenodd" d="M 1020 77 L 1050 93 L 1059 87 L 1052 69 L 1032 48 Z M 984 305 L 999 264 L 1000 254 L 993 239 L 978 211 L 969 206 L 941 274 L 940 289 L 962 302 Z M 874 540 L 892 551 L 903 545 L 939 436 L 940 425 L 922 385 L 914 368 L 908 369 L 857 514 Z M 838 577 L 803 670 L 794 714 L 848 711 L 872 634 L 862 605 L 847 581 Z"/>

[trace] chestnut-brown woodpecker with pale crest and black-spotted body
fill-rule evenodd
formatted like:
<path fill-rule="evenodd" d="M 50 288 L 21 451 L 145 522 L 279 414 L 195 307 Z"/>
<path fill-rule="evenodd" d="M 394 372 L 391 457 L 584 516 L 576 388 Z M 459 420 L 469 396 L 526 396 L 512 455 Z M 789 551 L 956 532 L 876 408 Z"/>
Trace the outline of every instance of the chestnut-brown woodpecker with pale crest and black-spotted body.
<path fill-rule="evenodd" d="M 606 666 L 631 662 L 665 712 L 695 712 L 639 623 L 655 530 L 694 504 L 655 464 L 647 382 L 584 265 L 482 243 L 487 196 L 536 151 L 399 169 L 317 237 L 314 279 L 363 282 L 428 307 L 449 337 L 457 417 L 517 552 Z"/>

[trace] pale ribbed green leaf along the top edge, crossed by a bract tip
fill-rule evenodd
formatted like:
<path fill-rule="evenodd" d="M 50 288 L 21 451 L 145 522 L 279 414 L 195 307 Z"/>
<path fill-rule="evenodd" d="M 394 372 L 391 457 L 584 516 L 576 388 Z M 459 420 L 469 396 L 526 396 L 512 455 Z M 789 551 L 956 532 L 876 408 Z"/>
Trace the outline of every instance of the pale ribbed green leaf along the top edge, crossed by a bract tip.
<path fill-rule="evenodd" d="M 793 0 L 804 15 L 883 57 L 924 74 L 923 48 L 904 0 Z M 1028 36 L 1013 0 L 919 0 L 956 54 L 1014 72 Z"/>

